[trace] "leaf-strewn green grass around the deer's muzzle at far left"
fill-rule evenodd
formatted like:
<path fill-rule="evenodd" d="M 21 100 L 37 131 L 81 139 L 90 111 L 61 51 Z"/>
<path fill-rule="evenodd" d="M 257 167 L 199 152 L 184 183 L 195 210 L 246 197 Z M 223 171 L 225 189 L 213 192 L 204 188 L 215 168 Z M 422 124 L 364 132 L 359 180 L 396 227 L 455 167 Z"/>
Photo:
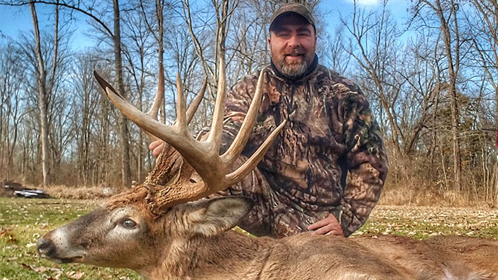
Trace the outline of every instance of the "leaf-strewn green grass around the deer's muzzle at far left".
<path fill-rule="evenodd" d="M 57 264 L 37 256 L 39 237 L 97 206 L 90 200 L 0 198 L 0 280 L 140 279 L 132 270 Z"/>

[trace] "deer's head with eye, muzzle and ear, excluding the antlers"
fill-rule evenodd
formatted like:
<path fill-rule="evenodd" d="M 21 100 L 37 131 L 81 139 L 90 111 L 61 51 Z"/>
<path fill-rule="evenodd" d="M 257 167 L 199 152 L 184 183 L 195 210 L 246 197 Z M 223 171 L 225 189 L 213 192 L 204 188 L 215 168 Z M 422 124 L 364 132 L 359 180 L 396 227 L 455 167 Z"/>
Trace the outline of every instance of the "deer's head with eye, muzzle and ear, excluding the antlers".
<path fill-rule="evenodd" d="M 131 268 L 147 274 L 165 265 L 165 260 L 178 263 L 181 254 L 176 248 L 185 247 L 194 236 L 210 238 L 230 230 L 252 206 L 248 198 L 214 198 L 179 204 L 158 216 L 150 211 L 146 193 L 136 187 L 123 196 L 137 200 L 109 202 L 48 232 L 39 240 L 39 254 L 61 263 Z"/>

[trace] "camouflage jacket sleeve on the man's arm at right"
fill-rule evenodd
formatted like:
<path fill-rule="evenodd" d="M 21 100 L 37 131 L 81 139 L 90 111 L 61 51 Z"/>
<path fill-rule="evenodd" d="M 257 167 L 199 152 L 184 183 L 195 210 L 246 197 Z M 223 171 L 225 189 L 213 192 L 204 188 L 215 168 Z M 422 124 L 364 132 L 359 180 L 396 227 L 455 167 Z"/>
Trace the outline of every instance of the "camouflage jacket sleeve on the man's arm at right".
<path fill-rule="evenodd" d="M 359 88 L 341 95 L 347 169 L 351 180 L 344 189 L 342 209 L 336 214 L 345 236 L 367 221 L 387 176 L 387 155 L 369 102 Z"/>

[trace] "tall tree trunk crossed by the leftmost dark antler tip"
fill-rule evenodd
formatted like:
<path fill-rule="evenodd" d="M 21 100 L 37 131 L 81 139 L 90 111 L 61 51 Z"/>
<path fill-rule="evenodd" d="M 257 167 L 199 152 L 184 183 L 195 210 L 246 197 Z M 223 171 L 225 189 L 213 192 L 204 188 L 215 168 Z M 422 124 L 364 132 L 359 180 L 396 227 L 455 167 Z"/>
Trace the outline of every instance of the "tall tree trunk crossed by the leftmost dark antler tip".
<path fill-rule="evenodd" d="M 119 1 L 113 0 L 114 8 L 114 57 L 116 67 L 116 80 L 118 82 L 118 93 L 125 97 L 124 83 L 122 73 L 122 57 L 121 57 L 121 32 L 120 32 L 120 10 Z M 120 115 L 120 138 L 121 138 L 121 183 L 124 187 L 131 186 L 131 171 L 129 165 L 129 139 L 127 119 L 124 115 Z"/>

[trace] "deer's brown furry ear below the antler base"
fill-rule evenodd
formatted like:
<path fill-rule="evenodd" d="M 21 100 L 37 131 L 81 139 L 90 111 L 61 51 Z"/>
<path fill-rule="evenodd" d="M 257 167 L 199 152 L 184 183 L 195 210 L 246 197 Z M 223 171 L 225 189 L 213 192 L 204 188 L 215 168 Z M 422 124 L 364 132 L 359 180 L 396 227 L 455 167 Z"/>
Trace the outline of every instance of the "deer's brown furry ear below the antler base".
<path fill-rule="evenodd" d="M 226 232 L 239 223 L 252 208 L 252 199 L 243 196 L 228 196 L 205 200 L 199 208 L 188 214 L 192 222 L 190 232 L 213 236 Z"/>

